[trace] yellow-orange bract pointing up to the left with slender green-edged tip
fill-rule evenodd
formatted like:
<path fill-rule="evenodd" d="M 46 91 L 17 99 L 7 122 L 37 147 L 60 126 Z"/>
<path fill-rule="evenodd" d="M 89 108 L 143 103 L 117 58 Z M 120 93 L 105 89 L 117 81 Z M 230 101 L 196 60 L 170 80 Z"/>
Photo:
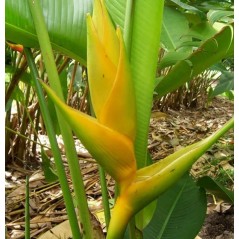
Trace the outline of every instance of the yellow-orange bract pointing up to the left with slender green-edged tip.
<path fill-rule="evenodd" d="M 133 142 L 125 135 L 100 124 L 97 119 L 67 106 L 50 87 L 44 83 L 42 85 L 76 136 L 119 183 L 121 190 L 125 189 L 136 175 Z"/>

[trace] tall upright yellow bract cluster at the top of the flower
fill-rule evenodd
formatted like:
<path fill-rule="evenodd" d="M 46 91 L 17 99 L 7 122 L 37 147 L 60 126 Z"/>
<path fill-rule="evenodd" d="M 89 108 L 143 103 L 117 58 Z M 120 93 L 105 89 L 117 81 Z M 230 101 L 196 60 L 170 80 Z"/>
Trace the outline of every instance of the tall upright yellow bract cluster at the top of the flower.
<path fill-rule="evenodd" d="M 95 1 L 87 16 L 87 64 L 91 98 L 100 123 L 135 138 L 135 94 L 122 34 L 105 6 Z"/>

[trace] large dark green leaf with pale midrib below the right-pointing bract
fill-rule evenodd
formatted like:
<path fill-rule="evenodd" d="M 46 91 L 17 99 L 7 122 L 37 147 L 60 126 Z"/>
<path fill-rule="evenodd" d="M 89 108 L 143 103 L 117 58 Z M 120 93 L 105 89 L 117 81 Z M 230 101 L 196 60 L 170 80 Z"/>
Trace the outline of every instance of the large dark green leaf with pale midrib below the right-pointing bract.
<path fill-rule="evenodd" d="M 157 200 L 152 221 L 144 230 L 150 239 L 192 239 L 202 227 L 207 198 L 192 178 L 184 175 Z"/>

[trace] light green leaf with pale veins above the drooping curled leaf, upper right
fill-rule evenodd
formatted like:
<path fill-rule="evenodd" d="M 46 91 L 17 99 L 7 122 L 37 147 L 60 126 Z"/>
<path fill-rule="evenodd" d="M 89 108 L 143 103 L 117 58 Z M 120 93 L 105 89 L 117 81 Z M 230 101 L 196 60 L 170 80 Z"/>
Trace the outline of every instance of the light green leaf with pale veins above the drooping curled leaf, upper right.
<path fill-rule="evenodd" d="M 166 53 L 158 64 L 159 69 L 187 59 L 192 54 L 193 47 L 200 47 L 202 41 L 212 38 L 218 31 L 208 22 L 200 22 L 189 28 L 189 21 L 183 13 L 165 7 L 161 44 Z"/>

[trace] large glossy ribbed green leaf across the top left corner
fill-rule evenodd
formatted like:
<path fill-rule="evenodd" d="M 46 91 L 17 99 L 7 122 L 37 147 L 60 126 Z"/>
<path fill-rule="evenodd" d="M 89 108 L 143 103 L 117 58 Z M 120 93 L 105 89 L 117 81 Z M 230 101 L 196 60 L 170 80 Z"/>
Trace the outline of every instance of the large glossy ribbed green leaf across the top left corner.
<path fill-rule="evenodd" d="M 86 13 L 92 1 L 41 0 L 52 47 L 86 64 Z M 27 0 L 5 2 L 6 39 L 28 47 L 39 47 Z"/>

